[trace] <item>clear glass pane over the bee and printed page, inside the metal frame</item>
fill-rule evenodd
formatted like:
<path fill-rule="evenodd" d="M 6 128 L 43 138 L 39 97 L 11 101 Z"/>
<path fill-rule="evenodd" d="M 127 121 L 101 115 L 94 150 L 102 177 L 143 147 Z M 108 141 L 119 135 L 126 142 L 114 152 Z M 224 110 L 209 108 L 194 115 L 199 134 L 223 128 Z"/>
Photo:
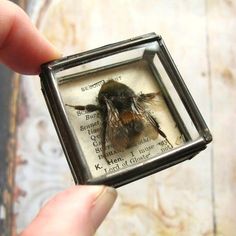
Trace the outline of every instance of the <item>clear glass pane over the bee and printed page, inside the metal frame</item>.
<path fill-rule="evenodd" d="M 176 125 L 179 121 L 149 61 L 157 50 L 158 44 L 151 43 L 55 74 L 93 178 L 183 145 L 186 135 Z M 107 94 L 106 101 L 98 99 L 101 91 Z M 86 105 L 89 112 L 83 110 Z"/>

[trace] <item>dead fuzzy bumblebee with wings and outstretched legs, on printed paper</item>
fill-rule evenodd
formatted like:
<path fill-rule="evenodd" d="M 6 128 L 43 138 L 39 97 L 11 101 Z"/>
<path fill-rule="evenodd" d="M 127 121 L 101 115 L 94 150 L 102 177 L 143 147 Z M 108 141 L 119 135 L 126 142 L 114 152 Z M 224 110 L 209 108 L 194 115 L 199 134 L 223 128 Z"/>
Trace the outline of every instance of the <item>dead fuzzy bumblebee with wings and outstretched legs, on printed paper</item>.
<path fill-rule="evenodd" d="M 98 111 L 101 117 L 101 143 L 102 154 L 106 158 L 106 138 L 117 151 L 135 145 L 140 137 L 147 133 L 147 128 L 152 129 L 152 138 L 160 134 L 170 145 L 166 134 L 161 130 L 155 117 L 146 109 L 146 104 L 151 102 L 159 93 L 136 95 L 127 85 L 109 80 L 103 83 L 97 104 L 69 105 L 76 110 L 85 112 Z"/>

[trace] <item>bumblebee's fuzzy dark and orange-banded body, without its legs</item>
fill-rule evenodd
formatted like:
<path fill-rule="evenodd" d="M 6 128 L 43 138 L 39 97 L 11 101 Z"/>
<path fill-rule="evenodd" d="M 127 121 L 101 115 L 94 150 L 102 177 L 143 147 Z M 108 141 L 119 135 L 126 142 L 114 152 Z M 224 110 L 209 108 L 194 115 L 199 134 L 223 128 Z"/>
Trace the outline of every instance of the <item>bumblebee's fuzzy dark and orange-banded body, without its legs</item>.
<path fill-rule="evenodd" d="M 98 94 L 104 132 L 118 151 L 132 146 L 144 129 L 142 117 L 132 107 L 134 97 L 132 89 L 114 80 L 103 84 Z"/>

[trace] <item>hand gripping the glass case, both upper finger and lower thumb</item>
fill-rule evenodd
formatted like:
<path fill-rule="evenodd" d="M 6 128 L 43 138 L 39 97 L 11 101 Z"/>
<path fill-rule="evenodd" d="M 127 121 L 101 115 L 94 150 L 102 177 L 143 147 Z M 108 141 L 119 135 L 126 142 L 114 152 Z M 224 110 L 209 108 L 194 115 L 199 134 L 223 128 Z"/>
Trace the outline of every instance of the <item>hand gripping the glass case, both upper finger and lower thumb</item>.
<path fill-rule="evenodd" d="M 38 74 L 40 65 L 60 53 L 15 4 L 0 0 L 0 61 L 22 74 Z M 93 235 L 116 199 L 105 186 L 75 186 L 50 200 L 21 236 Z"/>

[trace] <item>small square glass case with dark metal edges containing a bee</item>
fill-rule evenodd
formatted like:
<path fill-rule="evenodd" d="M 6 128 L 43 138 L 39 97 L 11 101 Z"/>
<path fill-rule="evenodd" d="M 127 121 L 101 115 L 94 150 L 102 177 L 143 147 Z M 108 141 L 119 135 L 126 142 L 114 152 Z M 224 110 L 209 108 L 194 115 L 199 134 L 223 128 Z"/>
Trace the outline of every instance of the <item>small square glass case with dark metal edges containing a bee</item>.
<path fill-rule="evenodd" d="M 76 183 L 118 187 L 191 159 L 212 140 L 155 33 L 46 63 L 40 77 Z"/>

